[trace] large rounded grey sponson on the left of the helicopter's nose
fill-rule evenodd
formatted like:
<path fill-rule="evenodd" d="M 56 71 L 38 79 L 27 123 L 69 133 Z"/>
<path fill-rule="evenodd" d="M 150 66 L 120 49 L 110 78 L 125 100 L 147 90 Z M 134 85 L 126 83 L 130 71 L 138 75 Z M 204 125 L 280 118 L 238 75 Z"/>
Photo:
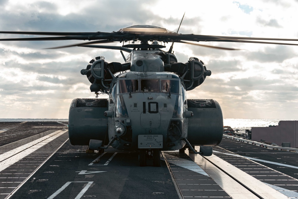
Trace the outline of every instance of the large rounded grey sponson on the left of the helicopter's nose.
<path fill-rule="evenodd" d="M 69 109 L 68 134 L 72 145 L 89 145 L 90 139 L 108 144 L 107 99 L 74 99 Z"/>

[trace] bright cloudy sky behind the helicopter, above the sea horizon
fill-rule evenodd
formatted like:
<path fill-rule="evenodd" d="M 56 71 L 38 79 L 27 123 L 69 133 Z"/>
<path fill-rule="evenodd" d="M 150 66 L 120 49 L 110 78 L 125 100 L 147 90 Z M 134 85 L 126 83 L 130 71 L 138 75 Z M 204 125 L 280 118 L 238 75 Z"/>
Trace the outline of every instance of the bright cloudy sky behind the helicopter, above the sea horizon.
<path fill-rule="evenodd" d="M 0 31 L 112 32 L 153 24 L 176 32 L 185 12 L 179 33 L 298 38 L 298 0 L 0 0 L 0 10 Z M 80 42 L 0 42 L 0 118 L 68 118 L 72 99 L 94 98 L 80 70 L 97 56 L 124 61 L 117 50 L 43 50 Z M 298 46 L 202 44 L 242 50 L 174 44 L 179 62 L 197 57 L 212 71 L 188 98 L 215 99 L 224 118 L 298 119 Z"/>

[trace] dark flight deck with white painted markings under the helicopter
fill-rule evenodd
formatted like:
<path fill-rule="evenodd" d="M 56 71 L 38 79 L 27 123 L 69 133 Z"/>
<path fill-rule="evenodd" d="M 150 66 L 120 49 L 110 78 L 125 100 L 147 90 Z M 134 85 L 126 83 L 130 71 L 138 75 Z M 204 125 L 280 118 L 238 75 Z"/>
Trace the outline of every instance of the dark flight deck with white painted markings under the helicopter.
<path fill-rule="evenodd" d="M 86 146 L 69 143 L 65 124 L 31 136 L 33 126 L 23 133 L 27 139 L 0 147 L 0 199 L 298 198 L 297 153 L 224 139 L 210 157 L 162 152 L 161 167 L 139 167 L 138 152 L 86 153 Z M 276 171 L 285 167 L 287 175 Z"/>

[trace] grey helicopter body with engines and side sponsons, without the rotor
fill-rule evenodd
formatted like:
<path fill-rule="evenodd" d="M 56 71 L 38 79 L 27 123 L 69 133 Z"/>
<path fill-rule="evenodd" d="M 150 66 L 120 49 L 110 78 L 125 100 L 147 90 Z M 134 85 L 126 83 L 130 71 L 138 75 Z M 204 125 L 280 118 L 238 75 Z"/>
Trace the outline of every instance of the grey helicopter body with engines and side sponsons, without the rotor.
<path fill-rule="evenodd" d="M 72 101 L 69 140 L 73 145 L 89 145 L 92 150 L 108 146 L 139 150 L 141 166 L 152 154 L 153 165 L 159 166 L 161 150 L 183 151 L 187 145 L 197 153 L 193 146 L 202 146 L 198 153 L 211 155 L 208 146 L 221 142 L 219 104 L 186 98 L 187 90 L 211 75 L 197 58 L 179 63 L 173 54 L 162 50 L 134 49 L 125 64 L 96 57 L 81 74 L 87 75 L 91 92 L 109 96 Z"/>

